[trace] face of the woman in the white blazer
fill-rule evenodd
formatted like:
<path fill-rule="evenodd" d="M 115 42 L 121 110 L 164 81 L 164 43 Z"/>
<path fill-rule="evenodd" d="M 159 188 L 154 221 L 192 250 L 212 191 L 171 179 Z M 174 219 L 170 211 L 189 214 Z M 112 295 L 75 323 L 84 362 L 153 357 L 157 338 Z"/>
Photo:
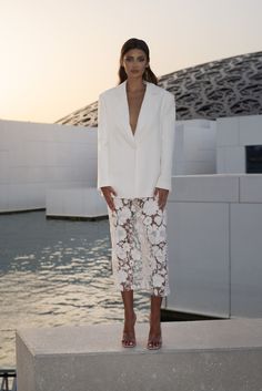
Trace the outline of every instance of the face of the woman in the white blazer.
<path fill-rule="evenodd" d="M 142 78 L 147 65 L 147 55 L 141 49 L 130 49 L 123 55 L 122 66 L 128 78 Z"/>

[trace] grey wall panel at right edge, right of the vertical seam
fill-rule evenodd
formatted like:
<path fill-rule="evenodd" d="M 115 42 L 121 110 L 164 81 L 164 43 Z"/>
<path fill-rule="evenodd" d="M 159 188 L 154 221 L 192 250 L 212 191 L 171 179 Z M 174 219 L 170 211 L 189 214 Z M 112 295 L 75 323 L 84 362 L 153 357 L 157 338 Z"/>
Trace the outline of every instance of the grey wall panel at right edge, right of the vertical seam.
<path fill-rule="evenodd" d="M 262 317 L 262 204 L 231 205 L 231 315 Z"/>

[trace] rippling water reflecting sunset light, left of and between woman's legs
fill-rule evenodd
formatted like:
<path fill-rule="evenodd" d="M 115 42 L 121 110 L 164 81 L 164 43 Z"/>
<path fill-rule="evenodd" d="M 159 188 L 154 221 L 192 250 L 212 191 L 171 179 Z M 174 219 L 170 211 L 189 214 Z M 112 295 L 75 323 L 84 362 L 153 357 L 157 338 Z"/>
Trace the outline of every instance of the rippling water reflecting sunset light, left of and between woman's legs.
<path fill-rule="evenodd" d="M 0 368 L 16 366 L 18 328 L 122 321 L 110 246 L 108 219 L 0 216 Z M 135 308 L 148 320 L 147 294 L 135 292 Z"/>

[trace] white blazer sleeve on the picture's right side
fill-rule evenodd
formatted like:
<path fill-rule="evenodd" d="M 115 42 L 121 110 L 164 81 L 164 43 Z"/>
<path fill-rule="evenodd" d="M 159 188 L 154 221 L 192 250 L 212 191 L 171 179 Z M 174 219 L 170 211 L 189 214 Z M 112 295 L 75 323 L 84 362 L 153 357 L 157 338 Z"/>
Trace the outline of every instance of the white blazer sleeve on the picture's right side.
<path fill-rule="evenodd" d="M 171 176 L 173 166 L 175 135 L 175 101 L 171 93 L 163 97 L 161 109 L 161 169 L 155 187 L 172 192 Z"/>

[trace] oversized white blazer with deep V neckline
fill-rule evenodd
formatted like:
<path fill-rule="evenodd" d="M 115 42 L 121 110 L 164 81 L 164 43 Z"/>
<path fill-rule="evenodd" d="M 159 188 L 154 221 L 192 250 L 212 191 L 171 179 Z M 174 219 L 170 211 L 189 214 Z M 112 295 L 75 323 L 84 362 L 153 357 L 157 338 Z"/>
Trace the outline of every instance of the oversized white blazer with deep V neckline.
<path fill-rule="evenodd" d="M 112 186 L 117 197 L 152 197 L 155 187 L 171 192 L 174 96 L 153 83 L 145 84 L 134 134 L 127 80 L 99 95 L 98 188 Z"/>

